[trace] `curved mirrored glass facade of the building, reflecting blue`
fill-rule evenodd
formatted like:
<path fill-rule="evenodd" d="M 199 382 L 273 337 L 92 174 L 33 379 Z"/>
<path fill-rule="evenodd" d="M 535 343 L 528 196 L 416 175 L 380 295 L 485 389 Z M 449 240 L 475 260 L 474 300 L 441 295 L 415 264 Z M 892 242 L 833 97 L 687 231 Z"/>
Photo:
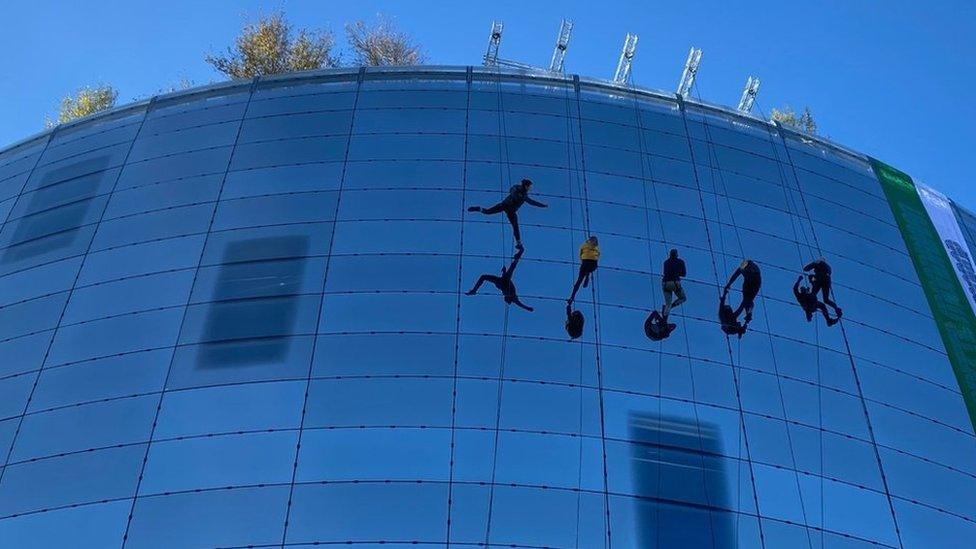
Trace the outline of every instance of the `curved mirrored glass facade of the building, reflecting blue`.
<path fill-rule="evenodd" d="M 466 207 L 522 178 L 534 312 L 463 293 L 513 252 Z M 967 392 L 871 163 L 756 118 L 482 68 L 261 78 L 0 151 L 0 221 L 3 547 L 976 539 Z M 829 328 L 791 291 L 821 255 Z"/>

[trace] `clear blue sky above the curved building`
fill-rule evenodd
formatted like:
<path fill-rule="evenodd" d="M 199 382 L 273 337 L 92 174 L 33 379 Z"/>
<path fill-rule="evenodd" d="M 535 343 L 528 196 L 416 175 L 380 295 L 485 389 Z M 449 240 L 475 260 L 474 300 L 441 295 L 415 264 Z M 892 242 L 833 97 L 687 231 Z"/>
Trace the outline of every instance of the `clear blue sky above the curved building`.
<path fill-rule="evenodd" d="M 704 49 L 697 93 L 735 105 L 746 76 L 758 106 L 809 106 L 821 133 L 976 208 L 976 2 L 972 0 L 532 2 L 288 0 L 147 2 L 30 0 L 3 7 L 0 147 L 39 131 L 59 99 L 111 83 L 120 102 L 187 78 L 219 80 L 203 61 L 247 17 L 283 7 L 301 26 L 396 18 L 428 61 L 477 64 L 492 19 L 504 57 L 548 63 L 562 17 L 576 26 L 567 71 L 609 78 L 624 34 L 640 35 L 634 79 L 674 89 L 692 45 Z M 340 40 L 341 41 L 341 40 Z"/>

